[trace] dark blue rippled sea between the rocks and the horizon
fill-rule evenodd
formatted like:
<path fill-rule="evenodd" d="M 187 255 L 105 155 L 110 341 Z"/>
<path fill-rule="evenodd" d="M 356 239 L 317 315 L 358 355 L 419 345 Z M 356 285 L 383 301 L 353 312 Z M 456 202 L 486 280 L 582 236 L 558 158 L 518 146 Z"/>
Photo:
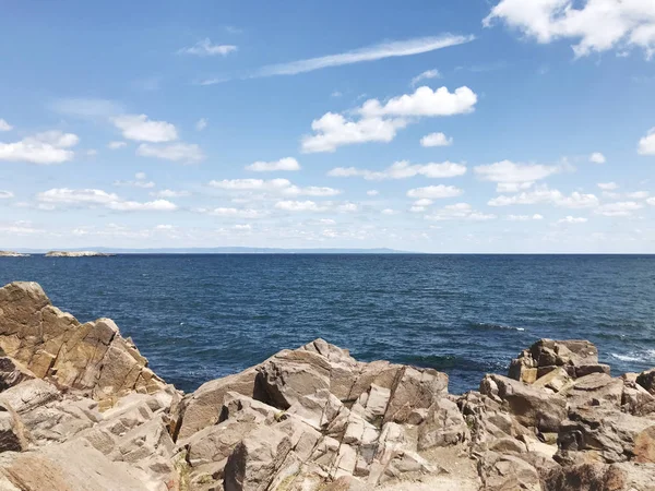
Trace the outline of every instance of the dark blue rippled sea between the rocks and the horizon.
<path fill-rule="evenodd" d="M 452 393 L 540 337 L 592 340 L 614 374 L 655 367 L 654 255 L 1 258 L 13 280 L 82 322 L 114 319 L 187 392 L 317 337 L 445 371 Z"/>

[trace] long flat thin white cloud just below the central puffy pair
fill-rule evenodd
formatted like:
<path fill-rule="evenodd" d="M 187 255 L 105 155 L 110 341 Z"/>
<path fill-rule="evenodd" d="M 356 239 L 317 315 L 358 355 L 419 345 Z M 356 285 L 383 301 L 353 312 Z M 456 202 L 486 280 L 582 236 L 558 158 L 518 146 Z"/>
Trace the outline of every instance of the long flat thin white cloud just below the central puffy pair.
<path fill-rule="evenodd" d="M 369 181 L 381 181 L 385 179 L 406 179 L 415 176 L 441 179 L 464 176 L 465 173 L 466 166 L 462 164 L 444 161 L 442 164 L 410 165 L 407 160 L 401 160 L 381 171 L 358 169 L 357 167 L 335 167 L 327 172 L 327 176 L 362 177 Z"/>

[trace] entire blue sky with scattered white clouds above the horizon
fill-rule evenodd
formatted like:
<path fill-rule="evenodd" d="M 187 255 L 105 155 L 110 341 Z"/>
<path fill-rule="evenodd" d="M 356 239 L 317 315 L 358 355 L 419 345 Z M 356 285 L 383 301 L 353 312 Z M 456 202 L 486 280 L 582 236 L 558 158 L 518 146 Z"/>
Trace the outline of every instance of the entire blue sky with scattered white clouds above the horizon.
<path fill-rule="evenodd" d="M 655 253 L 652 0 L 0 9 L 0 249 Z"/>

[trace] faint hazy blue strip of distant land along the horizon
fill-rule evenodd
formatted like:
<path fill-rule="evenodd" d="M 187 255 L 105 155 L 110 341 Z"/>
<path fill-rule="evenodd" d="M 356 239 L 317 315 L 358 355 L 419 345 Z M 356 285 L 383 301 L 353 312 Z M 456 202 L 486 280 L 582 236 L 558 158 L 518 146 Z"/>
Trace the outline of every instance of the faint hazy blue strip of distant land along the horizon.
<path fill-rule="evenodd" d="M 45 254 L 51 249 L 17 249 L 26 254 Z M 277 248 L 159 248 L 159 249 L 119 249 L 81 248 L 61 249 L 68 252 L 96 251 L 105 254 L 415 254 L 395 249 L 277 249 Z"/>

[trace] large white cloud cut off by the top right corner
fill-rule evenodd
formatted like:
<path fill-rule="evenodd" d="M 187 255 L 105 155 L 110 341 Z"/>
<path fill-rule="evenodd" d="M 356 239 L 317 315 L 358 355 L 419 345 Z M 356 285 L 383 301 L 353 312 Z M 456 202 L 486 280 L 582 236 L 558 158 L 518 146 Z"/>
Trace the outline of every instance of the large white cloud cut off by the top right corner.
<path fill-rule="evenodd" d="M 655 3 L 650 0 L 501 0 L 484 20 L 499 19 L 538 43 L 574 39 L 576 57 L 617 49 L 655 52 Z"/>

